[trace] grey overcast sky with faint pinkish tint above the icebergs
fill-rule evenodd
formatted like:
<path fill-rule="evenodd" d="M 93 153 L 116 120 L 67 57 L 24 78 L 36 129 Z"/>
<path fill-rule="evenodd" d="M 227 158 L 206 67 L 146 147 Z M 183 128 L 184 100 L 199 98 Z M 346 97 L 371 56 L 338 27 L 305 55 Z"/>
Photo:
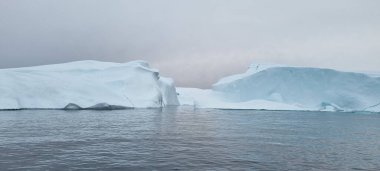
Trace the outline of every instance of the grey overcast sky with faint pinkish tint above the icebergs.
<path fill-rule="evenodd" d="M 0 0 L 0 68 L 148 61 L 207 88 L 252 62 L 380 70 L 379 0 Z"/>

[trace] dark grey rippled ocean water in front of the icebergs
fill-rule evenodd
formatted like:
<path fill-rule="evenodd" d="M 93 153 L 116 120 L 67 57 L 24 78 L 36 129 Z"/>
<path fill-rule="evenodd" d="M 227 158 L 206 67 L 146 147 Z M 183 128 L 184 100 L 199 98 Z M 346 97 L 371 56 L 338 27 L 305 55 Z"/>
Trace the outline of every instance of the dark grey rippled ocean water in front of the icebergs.
<path fill-rule="evenodd" d="M 0 170 L 380 170 L 380 114 L 0 111 Z"/>

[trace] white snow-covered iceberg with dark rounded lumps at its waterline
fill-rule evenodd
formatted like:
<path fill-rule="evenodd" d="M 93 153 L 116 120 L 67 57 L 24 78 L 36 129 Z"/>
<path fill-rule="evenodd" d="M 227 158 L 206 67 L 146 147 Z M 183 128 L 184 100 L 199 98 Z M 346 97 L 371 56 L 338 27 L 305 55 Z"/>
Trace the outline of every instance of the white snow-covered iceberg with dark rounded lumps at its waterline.
<path fill-rule="evenodd" d="M 144 61 L 79 61 L 1 69 L 0 109 L 123 109 L 179 105 L 174 83 Z"/>

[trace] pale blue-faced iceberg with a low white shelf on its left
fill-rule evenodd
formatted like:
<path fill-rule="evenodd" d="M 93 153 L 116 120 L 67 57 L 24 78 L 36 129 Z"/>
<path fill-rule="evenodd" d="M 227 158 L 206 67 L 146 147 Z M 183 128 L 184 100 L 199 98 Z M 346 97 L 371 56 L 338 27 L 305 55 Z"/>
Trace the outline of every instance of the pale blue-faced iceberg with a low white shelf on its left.
<path fill-rule="evenodd" d="M 211 90 L 178 88 L 199 108 L 380 112 L 380 78 L 332 69 L 251 65 Z"/>

